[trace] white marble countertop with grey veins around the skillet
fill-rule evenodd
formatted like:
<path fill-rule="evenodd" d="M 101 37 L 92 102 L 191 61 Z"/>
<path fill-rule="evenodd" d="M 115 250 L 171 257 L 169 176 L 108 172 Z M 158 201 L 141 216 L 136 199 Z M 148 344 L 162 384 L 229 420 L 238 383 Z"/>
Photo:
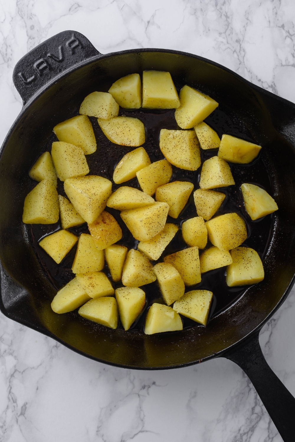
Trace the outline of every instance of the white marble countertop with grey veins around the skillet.
<path fill-rule="evenodd" d="M 66 29 L 101 52 L 176 49 L 295 102 L 292 0 L 0 0 L 0 140 L 21 110 L 15 63 Z M 295 291 L 261 332 L 295 395 Z M 220 358 L 178 370 L 94 362 L 0 314 L 2 442 L 279 442 L 249 379 Z"/>

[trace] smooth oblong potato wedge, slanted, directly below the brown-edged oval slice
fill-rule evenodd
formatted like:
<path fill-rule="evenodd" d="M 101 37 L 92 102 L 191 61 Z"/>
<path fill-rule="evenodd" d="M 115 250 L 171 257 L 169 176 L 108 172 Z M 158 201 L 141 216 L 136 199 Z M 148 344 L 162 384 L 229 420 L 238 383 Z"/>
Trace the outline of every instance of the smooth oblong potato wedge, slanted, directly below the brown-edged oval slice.
<path fill-rule="evenodd" d="M 114 183 L 121 184 L 136 177 L 136 172 L 149 166 L 150 159 L 143 147 L 126 153 L 116 165 L 113 175 Z"/>

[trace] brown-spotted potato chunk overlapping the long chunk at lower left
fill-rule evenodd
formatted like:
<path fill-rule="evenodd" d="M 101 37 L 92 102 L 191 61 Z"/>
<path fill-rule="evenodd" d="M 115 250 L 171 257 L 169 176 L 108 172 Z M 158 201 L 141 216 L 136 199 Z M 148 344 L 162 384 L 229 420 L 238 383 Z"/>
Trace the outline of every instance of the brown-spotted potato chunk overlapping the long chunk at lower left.
<path fill-rule="evenodd" d="M 76 278 L 91 298 L 110 296 L 115 293 L 111 282 L 103 272 L 77 273 Z"/>

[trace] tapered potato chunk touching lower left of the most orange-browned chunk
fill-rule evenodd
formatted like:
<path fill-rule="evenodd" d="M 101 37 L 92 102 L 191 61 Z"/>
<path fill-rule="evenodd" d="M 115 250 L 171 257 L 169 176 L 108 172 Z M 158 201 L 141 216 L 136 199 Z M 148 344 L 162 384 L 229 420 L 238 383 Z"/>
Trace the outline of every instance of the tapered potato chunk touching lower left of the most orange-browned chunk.
<path fill-rule="evenodd" d="M 104 253 L 97 250 L 91 235 L 81 233 L 72 272 L 88 273 L 103 270 Z"/>

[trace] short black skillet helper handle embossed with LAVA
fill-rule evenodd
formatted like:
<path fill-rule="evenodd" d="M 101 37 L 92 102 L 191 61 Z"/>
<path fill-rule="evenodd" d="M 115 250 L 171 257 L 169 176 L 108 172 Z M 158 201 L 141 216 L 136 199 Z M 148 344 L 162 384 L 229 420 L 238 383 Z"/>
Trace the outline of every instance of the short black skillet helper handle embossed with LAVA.
<path fill-rule="evenodd" d="M 23 104 L 62 72 L 98 55 L 100 52 L 79 32 L 65 30 L 48 38 L 21 58 L 14 68 L 12 79 Z"/>

